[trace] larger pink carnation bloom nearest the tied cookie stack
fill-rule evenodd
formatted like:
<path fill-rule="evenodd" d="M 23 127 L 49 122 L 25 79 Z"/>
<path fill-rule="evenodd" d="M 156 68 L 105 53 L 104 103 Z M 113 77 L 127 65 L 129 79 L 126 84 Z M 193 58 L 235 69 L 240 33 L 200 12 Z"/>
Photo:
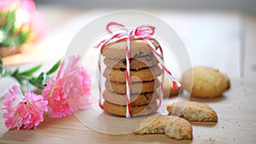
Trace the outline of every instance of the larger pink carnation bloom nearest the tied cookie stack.
<path fill-rule="evenodd" d="M 66 69 L 64 60 L 55 79 L 50 78 L 42 91 L 48 101 L 49 117 L 67 117 L 80 109 L 89 108 L 90 76 L 78 66 L 80 56 L 69 57 Z"/>

